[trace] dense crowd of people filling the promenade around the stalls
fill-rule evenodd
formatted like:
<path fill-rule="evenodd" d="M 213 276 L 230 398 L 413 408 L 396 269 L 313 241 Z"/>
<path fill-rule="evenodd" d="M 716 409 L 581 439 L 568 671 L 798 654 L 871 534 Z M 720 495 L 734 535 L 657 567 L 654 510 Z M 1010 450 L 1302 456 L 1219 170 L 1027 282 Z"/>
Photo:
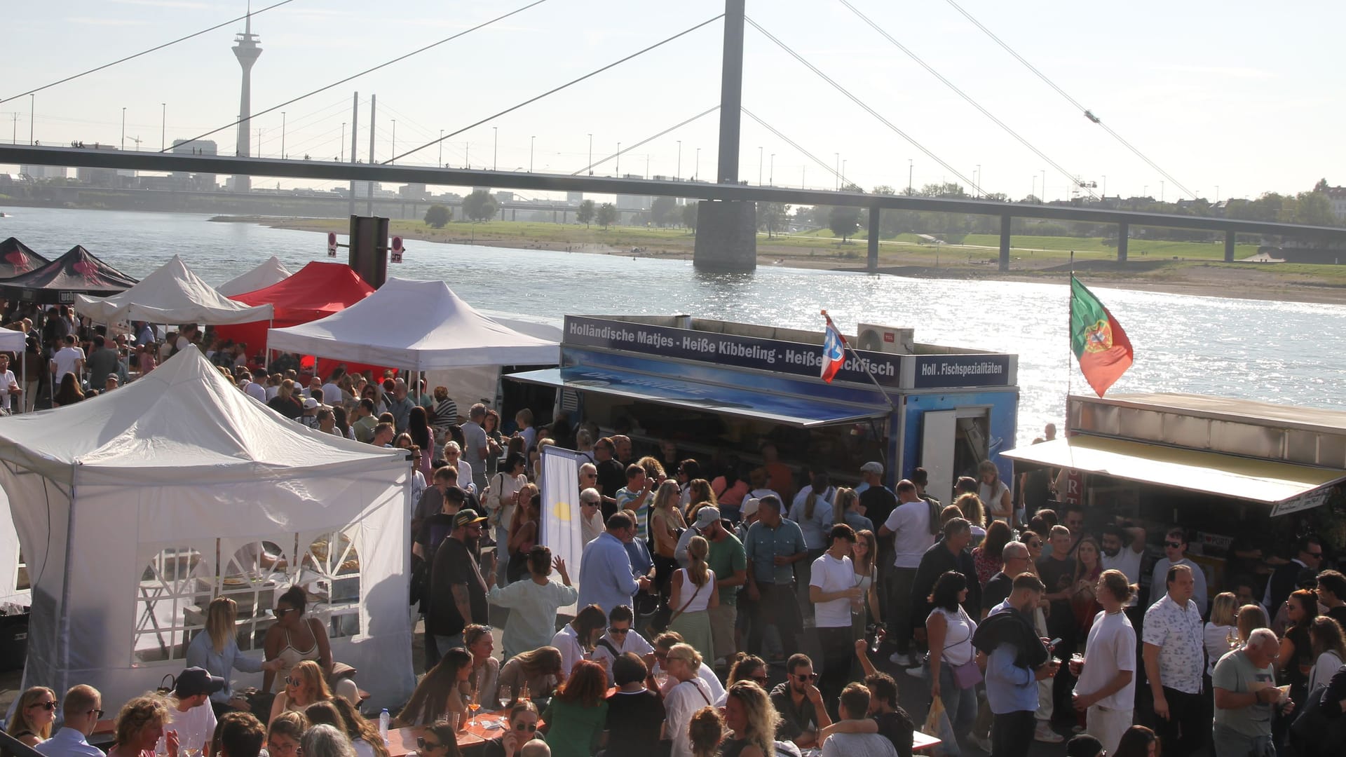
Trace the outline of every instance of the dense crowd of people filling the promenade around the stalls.
<path fill-rule="evenodd" d="M 55 392 L 58 404 L 113 388 L 125 377 L 118 365 L 143 373 L 166 357 L 148 331 L 133 343 L 93 335 L 83 357 L 78 329 L 51 326 L 63 318 L 55 310 L 39 329 L 55 339 L 39 342 L 50 361 L 39 365 L 57 385 L 74 384 Z M 662 744 L 677 757 L 906 757 L 922 722 L 871 660 L 879 649 L 880 665 L 925 682 L 938 704 L 925 725 L 946 756 L 1018 757 L 1066 741 L 1063 731 L 1074 731 L 1067 753 L 1088 757 L 1341 753 L 1322 735 L 1346 730 L 1346 578 L 1323 570 L 1314 535 L 1283 558 L 1233 550 L 1232 564 L 1264 570 L 1225 577 L 1232 590 L 1210 597 L 1187 528 L 1098 513 L 1086 525 L 1090 513 L 1058 500 L 1062 478 L 1049 471 L 1011 486 L 983 462 L 942 504 L 919 467 L 886 478 L 882 462 L 865 462 L 857 484 L 841 486 L 828 471 L 791 469 L 773 443 L 754 463 L 697 459 L 670 442 L 638 455 L 631 438 L 594 423 L 536 428 L 526 408 L 506 432 L 485 404 L 460 415 L 444 387 L 343 366 L 306 387 L 295 356 L 253 373 L 245 346 L 195 327 L 174 334 L 168 352 L 195 342 L 280 416 L 408 450 L 408 570 L 425 655 L 393 725 L 423 727 L 417 750 L 428 757 L 456 754 L 455 734 L 478 709 L 505 715 L 485 748 L 493 756 L 616 757 Z M 4 369 L 7 404 L 36 393 Z M 542 543 L 548 445 L 581 455 L 579 566 Z M 1159 531 L 1163 556 L 1151 559 Z M 557 628 L 569 605 L 575 617 Z M 491 606 L 507 610 L 499 653 Z M 265 742 L 279 757 L 388 757 L 323 625 L 306 618 L 303 591 L 277 599 L 261 660 L 238 651 L 234 616 L 232 601 L 211 602 L 179 690 L 122 709 L 117 757 L 153 750 L 160 737 L 170 754 L 201 742 L 250 757 Z M 232 691 L 234 669 L 262 672 L 262 690 Z M 773 669 L 782 683 L 770 684 Z M 9 731 L 52 757 L 92 756 L 98 706 L 96 691 L 71 688 L 65 727 L 51 734 L 55 695 L 30 690 Z M 206 713 L 209 729 L 198 725 Z"/>

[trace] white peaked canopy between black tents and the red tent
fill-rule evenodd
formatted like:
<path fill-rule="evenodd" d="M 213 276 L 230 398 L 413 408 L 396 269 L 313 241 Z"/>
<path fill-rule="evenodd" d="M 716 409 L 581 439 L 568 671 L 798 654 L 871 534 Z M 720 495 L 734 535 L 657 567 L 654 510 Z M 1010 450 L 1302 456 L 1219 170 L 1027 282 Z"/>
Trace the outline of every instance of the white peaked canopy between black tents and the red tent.
<path fill-rule="evenodd" d="M 273 307 L 249 307 L 215 291 L 176 255 L 129 290 L 109 296 L 75 295 L 75 312 L 98 323 L 253 323 L 271 321 Z"/>

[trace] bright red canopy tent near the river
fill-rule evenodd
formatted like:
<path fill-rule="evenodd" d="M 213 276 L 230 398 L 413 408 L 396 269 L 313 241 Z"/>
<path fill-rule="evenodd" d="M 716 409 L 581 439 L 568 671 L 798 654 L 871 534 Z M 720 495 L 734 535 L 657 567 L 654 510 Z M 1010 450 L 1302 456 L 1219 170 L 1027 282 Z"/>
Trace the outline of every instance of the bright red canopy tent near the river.
<path fill-rule="evenodd" d="M 373 291 L 374 287 L 366 284 L 350 265 L 315 260 L 279 284 L 229 298 L 244 304 L 273 306 L 276 315 L 272 323 L 258 321 L 217 326 L 215 333 L 221 338 L 246 343 L 248 354 L 256 354 L 267 346 L 268 326 L 283 329 L 327 318 L 365 299 Z"/>

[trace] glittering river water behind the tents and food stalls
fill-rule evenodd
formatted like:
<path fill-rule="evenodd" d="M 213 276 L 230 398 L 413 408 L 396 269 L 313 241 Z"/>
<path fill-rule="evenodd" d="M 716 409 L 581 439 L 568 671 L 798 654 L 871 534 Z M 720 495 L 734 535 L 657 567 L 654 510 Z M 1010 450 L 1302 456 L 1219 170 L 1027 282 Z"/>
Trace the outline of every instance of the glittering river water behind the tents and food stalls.
<path fill-rule="evenodd" d="M 328 260 L 322 234 L 206 216 L 5 207 L 0 238 L 48 259 L 77 244 L 141 277 L 174 253 L 211 284 L 275 255 L 292 271 Z M 443 279 L 476 307 L 565 314 L 674 314 L 822 329 L 826 308 L 856 322 L 915 327 L 917 341 L 1019 356 L 1019 432 L 1061 423 L 1067 383 L 1089 392 L 1069 352 L 1062 284 L 962 282 L 762 267 L 699 273 L 689 261 L 409 241 L 389 273 Z M 345 256 L 345 252 L 339 255 Z M 343 257 L 342 257 L 343 259 Z M 1088 280 L 1085 282 L 1089 283 Z M 1136 362 L 1113 392 L 1190 392 L 1343 408 L 1346 307 L 1183 296 L 1096 287 L 1127 329 Z M 415 317 L 415 303 L 408 303 Z"/>

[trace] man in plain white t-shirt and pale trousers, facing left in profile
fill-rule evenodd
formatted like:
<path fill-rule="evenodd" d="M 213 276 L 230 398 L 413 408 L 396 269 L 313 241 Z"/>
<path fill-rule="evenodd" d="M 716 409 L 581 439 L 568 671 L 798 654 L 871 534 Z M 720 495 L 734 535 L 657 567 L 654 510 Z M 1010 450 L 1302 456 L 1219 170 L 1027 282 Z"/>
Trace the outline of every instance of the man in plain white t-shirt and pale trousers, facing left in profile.
<path fill-rule="evenodd" d="M 1079 678 L 1075 710 L 1089 713 L 1089 733 L 1112 754 L 1131 727 L 1136 702 L 1136 629 L 1123 612 L 1135 586 L 1121 571 L 1105 570 L 1094 594 L 1102 612 L 1089 628 L 1084 663 L 1071 661 L 1070 672 Z"/>

